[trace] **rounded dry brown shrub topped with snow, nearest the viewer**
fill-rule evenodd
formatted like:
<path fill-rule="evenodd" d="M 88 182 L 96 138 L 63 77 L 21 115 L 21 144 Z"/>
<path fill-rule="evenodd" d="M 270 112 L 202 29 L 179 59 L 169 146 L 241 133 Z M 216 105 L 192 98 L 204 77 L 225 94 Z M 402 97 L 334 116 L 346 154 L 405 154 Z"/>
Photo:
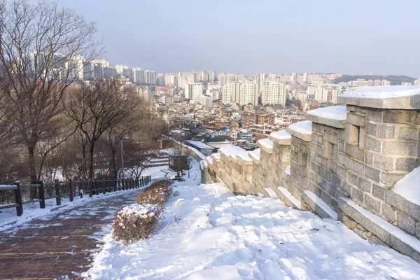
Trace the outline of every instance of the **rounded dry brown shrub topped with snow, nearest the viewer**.
<path fill-rule="evenodd" d="M 149 237 L 162 216 L 154 204 L 131 204 L 118 210 L 113 223 L 113 239 L 125 244 Z"/>

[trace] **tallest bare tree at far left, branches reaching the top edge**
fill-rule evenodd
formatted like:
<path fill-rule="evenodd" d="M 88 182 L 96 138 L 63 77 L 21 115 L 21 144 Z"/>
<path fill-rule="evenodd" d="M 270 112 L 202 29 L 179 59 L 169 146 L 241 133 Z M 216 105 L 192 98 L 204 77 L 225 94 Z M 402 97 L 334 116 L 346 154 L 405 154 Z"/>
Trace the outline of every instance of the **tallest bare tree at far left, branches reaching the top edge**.
<path fill-rule="evenodd" d="M 31 183 L 37 180 L 36 145 L 57 137 L 64 94 L 83 75 L 83 62 L 100 52 L 95 32 L 94 24 L 57 2 L 0 4 L 2 110 L 8 110 L 15 143 L 27 149 Z"/>

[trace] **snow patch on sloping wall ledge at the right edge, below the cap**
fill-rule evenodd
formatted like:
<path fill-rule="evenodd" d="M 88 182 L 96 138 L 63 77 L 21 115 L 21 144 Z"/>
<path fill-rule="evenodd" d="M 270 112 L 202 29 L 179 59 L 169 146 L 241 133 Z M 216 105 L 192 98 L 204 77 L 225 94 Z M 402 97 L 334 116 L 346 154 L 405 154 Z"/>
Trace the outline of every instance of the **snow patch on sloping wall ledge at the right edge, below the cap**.
<path fill-rule="evenodd" d="M 409 202 L 420 205 L 420 167 L 415 168 L 395 183 L 392 190 Z"/>

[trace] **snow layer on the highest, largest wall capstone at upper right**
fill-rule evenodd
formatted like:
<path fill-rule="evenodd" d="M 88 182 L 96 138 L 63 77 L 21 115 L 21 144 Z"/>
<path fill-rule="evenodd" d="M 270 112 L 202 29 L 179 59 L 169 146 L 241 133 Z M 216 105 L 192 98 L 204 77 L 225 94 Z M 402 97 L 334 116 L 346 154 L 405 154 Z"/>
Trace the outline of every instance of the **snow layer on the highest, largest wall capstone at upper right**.
<path fill-rule="evenodd" d="M 377 87 L 364 87 L 359 90 L 344 92 L 342 97 L 388 99 L 395 97 L 409 97 L 420 95 L 420 85 L 386 85 Z"/>

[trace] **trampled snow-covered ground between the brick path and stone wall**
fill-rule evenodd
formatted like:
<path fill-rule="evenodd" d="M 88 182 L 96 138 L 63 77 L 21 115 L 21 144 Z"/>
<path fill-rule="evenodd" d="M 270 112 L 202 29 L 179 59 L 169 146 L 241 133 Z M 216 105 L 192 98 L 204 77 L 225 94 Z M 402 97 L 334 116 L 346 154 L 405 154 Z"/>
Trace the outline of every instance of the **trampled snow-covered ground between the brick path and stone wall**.
<path fill-rule="evenodd" d="M 221 183 L 174 183 L 155 234 L 131 245 L 104 237 L 92 279 L 420 279 L 420 264 L 342 223 Z M 185 178 L 186 176 L 184 176 Z M 111 230 L 111 225 L 109 226 Z"/>

